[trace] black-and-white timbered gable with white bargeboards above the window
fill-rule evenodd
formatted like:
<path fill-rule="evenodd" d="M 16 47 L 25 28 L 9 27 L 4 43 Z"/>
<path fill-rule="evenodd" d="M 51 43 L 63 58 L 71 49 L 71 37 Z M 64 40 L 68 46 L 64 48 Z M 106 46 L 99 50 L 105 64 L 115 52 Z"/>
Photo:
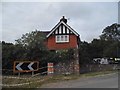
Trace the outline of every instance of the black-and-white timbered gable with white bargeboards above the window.
<path fill-rule="evenodd" d="M 69 35 L 69 34 L 75 34 L 76 36 L 79 36 L 79 34 L 74 31 L 69 25 L 64 23 L 63 21 L 60 21 L 47 35 L 47 38 L 50 35 Z"/>

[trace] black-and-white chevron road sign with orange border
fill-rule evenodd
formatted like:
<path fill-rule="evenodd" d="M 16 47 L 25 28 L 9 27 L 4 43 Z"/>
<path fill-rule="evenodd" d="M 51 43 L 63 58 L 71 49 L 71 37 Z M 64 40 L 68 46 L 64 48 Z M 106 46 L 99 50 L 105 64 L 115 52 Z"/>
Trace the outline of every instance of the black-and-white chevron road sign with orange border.
<path fill-rule="evenodd" d="M 14 72 L 32 72 L 38 71 L 38 61 L 15 61 L 13 66 Z"/>

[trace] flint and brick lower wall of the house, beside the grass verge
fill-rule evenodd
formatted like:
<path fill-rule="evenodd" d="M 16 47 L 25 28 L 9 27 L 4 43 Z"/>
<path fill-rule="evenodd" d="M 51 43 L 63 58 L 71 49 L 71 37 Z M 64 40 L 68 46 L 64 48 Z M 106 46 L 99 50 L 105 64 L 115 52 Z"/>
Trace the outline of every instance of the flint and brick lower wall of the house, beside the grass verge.
<path fill-rule="evenodd" d="M 78 49 L 74 49 L 74 59 L 54 66 L 55 74 L 80 74 Z"/>

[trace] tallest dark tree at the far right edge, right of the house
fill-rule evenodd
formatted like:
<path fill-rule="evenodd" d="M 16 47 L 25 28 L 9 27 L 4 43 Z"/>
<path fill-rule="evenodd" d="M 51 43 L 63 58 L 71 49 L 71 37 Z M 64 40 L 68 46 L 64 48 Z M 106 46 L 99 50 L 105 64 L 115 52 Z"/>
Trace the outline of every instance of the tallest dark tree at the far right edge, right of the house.
<path fill-rule="evenodd" d="M 105 47 L 103 56 L 105 57 L 120 57 L 120 24 L 114 23 L 107 26 L 100 35 L 100 40 L 104 41 Z"/>

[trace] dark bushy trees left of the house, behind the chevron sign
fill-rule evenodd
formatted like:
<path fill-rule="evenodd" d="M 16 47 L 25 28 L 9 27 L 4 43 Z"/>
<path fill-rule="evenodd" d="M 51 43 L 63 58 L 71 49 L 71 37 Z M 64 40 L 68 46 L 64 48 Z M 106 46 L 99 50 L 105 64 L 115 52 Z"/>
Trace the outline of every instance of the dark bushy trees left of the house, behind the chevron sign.
<path fill-rule="evenodd" d="M 26 33 L 16 44 L 2 42 L 2 67 L 13 69 L 13 62 L 18 60 L 34 60 L 45 63 L 48 54 L 43 41 L 45 36 L 39 31 Z M 46 60 L 44 60 L 46 59 Z"/>

